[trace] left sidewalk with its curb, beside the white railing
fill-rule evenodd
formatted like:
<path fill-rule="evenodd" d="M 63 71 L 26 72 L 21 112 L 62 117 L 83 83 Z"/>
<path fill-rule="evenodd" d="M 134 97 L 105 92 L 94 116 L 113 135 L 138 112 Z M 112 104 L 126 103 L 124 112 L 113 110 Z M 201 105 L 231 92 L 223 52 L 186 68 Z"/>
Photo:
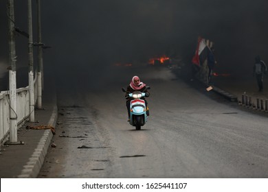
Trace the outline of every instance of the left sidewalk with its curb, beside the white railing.
<path fill-rule="evenodd" d="M 56 106 L 56 90 L 49 87 L 44 91 L 43 109 L 35 110 L 35 123 L 25 123 L 18 130 L 17 145 L 1 146 L 0 178 L 36 178 L 45 160 L 47 149 L 53 133 L 50 129 L 26 129 L 41 125 L 52 125 L 55 128 L 58 110 Z"/>

